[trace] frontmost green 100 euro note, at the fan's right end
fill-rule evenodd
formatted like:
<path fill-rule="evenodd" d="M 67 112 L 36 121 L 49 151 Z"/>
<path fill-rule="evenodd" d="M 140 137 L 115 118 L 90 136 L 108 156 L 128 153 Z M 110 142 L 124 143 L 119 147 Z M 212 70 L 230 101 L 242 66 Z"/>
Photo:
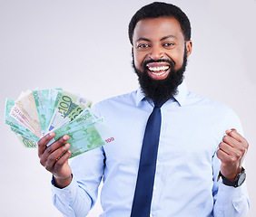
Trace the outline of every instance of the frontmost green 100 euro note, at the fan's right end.
<path fill-rule="evenodd" d="M 72 152 L 70 158 L 114 140 L 108 127 L 103 123 L 103 118 L 95 118 L 90 112 L 84 113 L 67 125 L 55 129 L 54 133 L 54 138 L 47 146 L 67 134 L 69 136 L 67 143 L 70 144 L 69 149 Z"/>

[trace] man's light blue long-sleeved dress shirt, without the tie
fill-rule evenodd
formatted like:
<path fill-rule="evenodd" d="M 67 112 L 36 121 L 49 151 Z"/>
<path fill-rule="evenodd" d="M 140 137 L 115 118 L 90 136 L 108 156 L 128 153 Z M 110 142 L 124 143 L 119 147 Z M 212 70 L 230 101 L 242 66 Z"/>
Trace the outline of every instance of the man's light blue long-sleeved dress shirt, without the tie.
<path fill-rule="evenodd" d="M 184 82 L 178 90 L 175 99 L 161 109 L 151 216 L 246 216 L 246 184 L 234 188 L 217 182 L 221 162 L 216 150 L 226 129 L 233 127 L 241 133 L 239 118 L 221 103 L 189 92 Z M 105 99 L 94 109 L 115 140 L 74 158 L 72 183 L 64 189 L 53 186 L 54 205 L 65 216 L 86 216 L 103 178 L 101 216 L 129 217 L 144 129 L 153 104 L 137 90 Z"/>

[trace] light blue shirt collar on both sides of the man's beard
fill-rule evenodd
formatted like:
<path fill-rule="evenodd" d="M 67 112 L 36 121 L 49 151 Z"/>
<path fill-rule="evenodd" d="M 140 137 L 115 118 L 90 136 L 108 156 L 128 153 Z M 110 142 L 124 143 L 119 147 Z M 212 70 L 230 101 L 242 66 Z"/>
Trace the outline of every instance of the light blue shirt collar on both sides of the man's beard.
<path fill-rule="evenodd" d="M 185 102 L 185 99 L 187 97 L 188 90 L 185 80 L 182 81 L 182 84 L 178 86 L 177 94 L 174 96 L 174 99 L 179 103 L 180 106 L 182 106 Z M 137 90 L 136 94 L 136 106 L 139 105 L 139 103 L 145 98 L 143 94 L 143 90 L 141 87 L 139 87 L 139 90 Z"/>

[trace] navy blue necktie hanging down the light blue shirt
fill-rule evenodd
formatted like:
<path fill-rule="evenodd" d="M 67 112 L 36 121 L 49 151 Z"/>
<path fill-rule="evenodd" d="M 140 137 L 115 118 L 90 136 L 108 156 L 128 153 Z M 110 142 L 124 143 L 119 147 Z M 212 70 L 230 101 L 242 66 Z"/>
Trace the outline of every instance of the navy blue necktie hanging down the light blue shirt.
<path fill-rule="evenodd" d="M 131 217 L 148 217 L 150 215 L 162 104 L 154 103 L 153 112 L 148 118 L 145 128 Z"/>

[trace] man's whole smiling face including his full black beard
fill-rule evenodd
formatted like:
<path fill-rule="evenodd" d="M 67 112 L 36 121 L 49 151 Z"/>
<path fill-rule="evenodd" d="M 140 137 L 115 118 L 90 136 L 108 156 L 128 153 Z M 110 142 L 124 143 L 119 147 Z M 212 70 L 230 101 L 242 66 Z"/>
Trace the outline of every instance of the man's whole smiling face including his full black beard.
<path fill-rule="evenodd" d="M 141 20 L 133 33 L 133 68 L 147 99 L 166 101 L 182 83 L 192 42 L 184 41 L 179 22 L 172 18 Z"/>

